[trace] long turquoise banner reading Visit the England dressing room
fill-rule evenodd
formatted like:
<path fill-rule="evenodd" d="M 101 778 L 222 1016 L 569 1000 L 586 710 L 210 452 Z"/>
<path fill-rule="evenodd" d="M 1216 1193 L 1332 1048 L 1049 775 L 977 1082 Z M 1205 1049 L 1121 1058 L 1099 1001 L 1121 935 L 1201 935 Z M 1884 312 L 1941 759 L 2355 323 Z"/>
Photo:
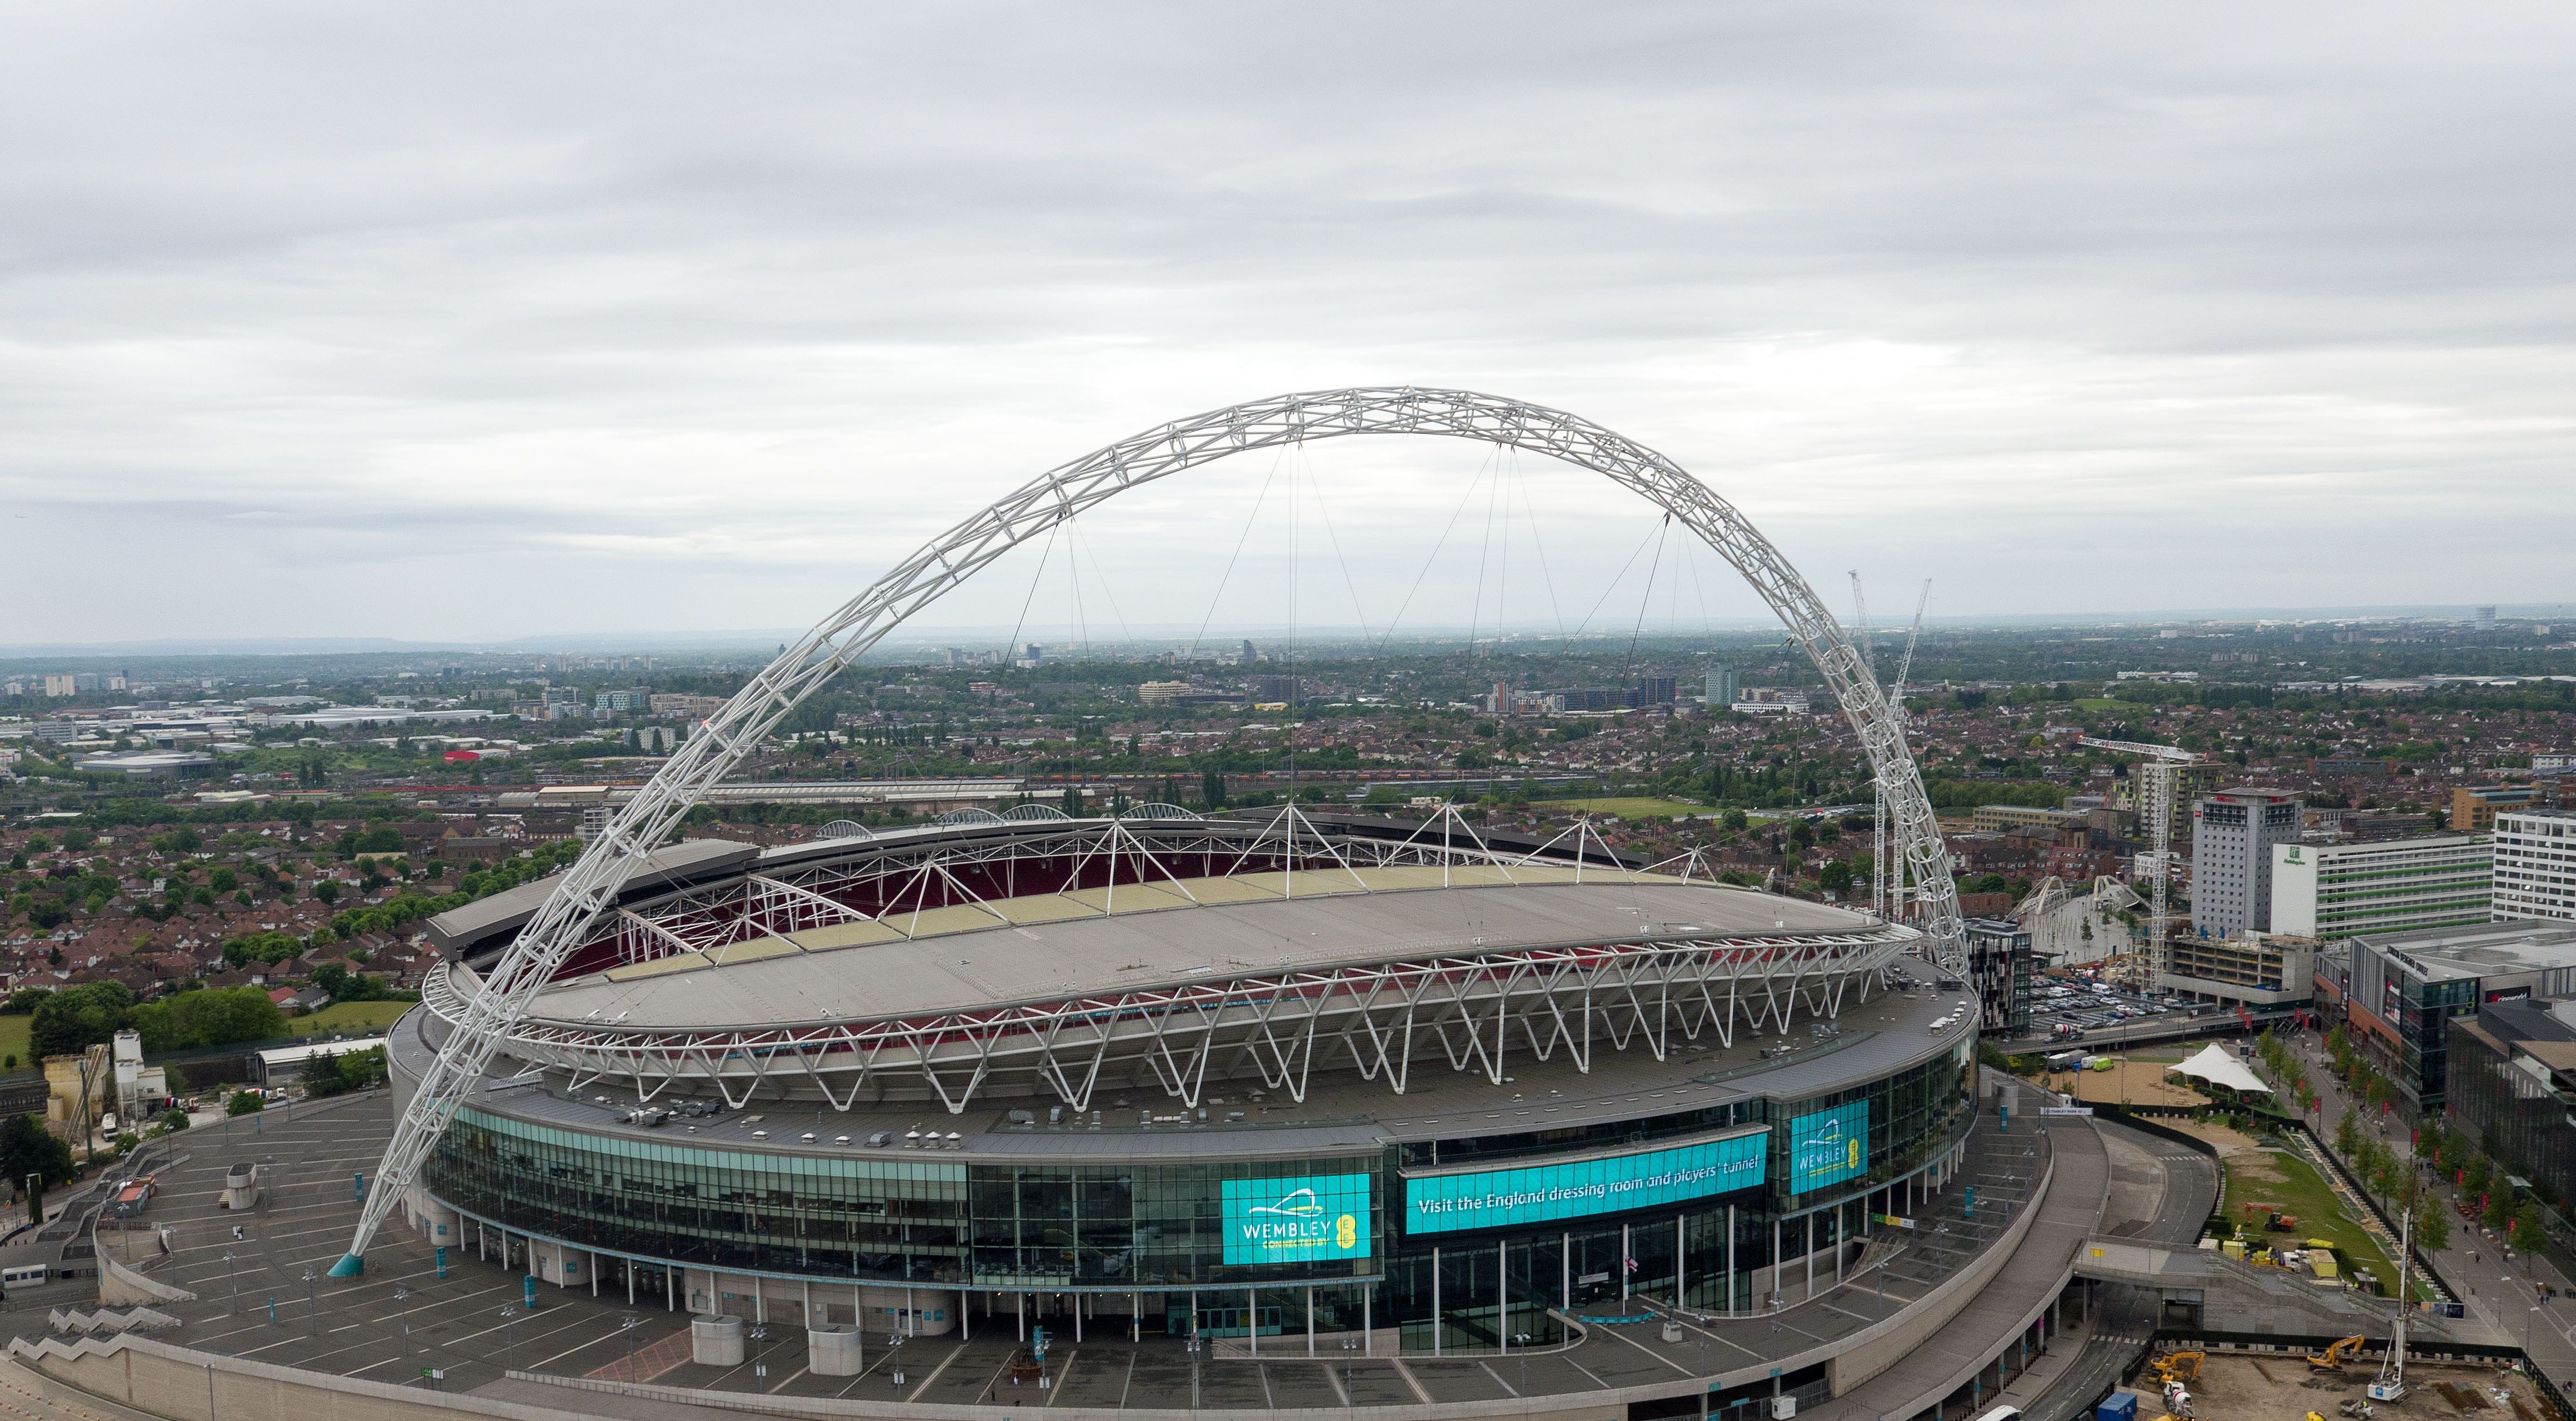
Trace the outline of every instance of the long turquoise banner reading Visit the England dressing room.
<path fill-rule="evenodd" d="M 1759 1184 L 1767 1146 L 1770 1133 L 1757 1130 L 1669 1151 L 1406 1179 L 1404 1233 L 1512 1228 L 1705 1200 Z"/>

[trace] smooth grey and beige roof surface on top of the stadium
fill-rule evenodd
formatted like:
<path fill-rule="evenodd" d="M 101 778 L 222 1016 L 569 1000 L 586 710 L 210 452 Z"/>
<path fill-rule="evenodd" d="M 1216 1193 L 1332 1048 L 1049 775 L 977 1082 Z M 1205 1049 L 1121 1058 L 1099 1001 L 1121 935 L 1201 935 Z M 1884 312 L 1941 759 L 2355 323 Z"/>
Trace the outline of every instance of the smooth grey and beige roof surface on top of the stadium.
<path fill-rule="evenodd" d="M 1512 883 L 1497 870 L 1453 870 L 1443 888 L 1440 873 L 1298 873 L 1296 896 L 1283 896 L 1278 873 L 1128 883 L 1115 914 L 1097 888 L 891 914 L 595 973 L 549 989 L 533 1014 L 629 1032 L 848 1022 L 1458 952 L 1901 932 L 1844 909 L 1674 878 L 1592 870 L 1574 883 L 1571 868 L 1515 868 Z"/>

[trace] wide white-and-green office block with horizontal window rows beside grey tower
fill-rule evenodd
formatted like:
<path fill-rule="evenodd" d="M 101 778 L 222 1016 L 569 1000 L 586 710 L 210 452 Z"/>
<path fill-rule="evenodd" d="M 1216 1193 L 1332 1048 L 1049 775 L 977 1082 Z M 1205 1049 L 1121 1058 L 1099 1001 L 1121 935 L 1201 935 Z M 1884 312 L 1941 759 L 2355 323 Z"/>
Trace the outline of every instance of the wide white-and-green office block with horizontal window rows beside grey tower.
<path fill-rule="evenodd" d="M 2272 844 L 2272 932 L 2352 937 L 2488 922 L 2494 847 L 2470 834 Z"/>

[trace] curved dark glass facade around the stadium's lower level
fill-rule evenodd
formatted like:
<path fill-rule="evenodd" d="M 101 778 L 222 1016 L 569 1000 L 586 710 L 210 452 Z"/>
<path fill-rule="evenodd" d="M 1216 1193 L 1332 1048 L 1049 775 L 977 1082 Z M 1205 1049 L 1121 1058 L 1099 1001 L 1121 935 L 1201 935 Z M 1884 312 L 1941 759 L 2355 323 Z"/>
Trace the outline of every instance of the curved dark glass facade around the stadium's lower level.
<path fill-rule="evenodd" d="M 1924 1169 L 1965 1135 L 1968 1061 L 1960 1045 L 1808 1099 L 1283 1161 L 1041 1166 L 948 1161 L 930 1151 L 752 1153 L 464 1110 L 422 1184 L 513 1231 L 670 1264 L 997 1292 L 1136 1292 L 1172 1331 L 1193 1326 L 1195 1305 L 1195 1326 L 1211 1336 L 1301 1328 L 1311 1287 L 1319 1326 L 1355 1326 L 1363 1305 L 1373 1305 L 1378 1326 L 1404 1326 L 1409 1344 L 1430 1346 L 1437 1331 L 1445 1346 L 1492 1346 L 1522 1333 L 1551 1339 L 1548 1308 L 1579 1313 L 1615 1300 L 1623 1274 L 1628 1290 L 1680 1292 L 1695 1308 L 1754 1308 L 1754 1272 L 1772 1261 L 1775 1233 L 1783 1259 L 1857 1233 L 1873 1189 Z M 1837 1120 L 1850 1148 L 1837 1169 L 1808 1171 L 1806 1192 L 1790 1192 L 1793 1120 Z M 1739 1169 L 1744 1187 L 1646 1192 L 1638 1194 L 1646 1207 L 1517 1228 L 1404 1233 L 1406 1166 L 1422 1171 L 1432 1156 L 1448 1169 L 1564 1161 L 1736 1125 L 1770 1125 L 1721 1151 L 1767 1153 L 1759 1169 Z M 1713 1166 L 1685 1153 L 1687 1143 L 1674 1143 L 1649 1158 Z M 1260 1238 L 1314 1243 L 1247 1249 L 1234 1238 L 1260 1220 L 1278 1223 Z M 1229 1238 L 1234 1259 L 1270 1261 L 1229 1261 Z M 1373 1285 L 1365 1303 L 1363 1285 Z"/>

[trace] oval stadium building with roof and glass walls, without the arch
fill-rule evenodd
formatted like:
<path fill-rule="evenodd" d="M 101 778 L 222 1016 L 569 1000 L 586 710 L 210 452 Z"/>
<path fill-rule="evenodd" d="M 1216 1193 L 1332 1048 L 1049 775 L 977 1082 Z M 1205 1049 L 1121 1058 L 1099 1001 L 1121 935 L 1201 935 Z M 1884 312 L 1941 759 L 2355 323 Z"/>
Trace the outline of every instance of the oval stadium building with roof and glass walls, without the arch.
<path fill-rule="evenodd" d="M 397 1091 L 544 893 L 433 924 Z M 1963 1158 L 1976 1012 L 1911 947 L 1455 816 L 688 842 L 404 1215 L 567 1287 L 899 1333 L 1443 1351 L 1636 1292 L 1759 1313 Z"/>

